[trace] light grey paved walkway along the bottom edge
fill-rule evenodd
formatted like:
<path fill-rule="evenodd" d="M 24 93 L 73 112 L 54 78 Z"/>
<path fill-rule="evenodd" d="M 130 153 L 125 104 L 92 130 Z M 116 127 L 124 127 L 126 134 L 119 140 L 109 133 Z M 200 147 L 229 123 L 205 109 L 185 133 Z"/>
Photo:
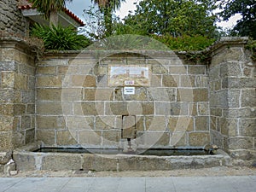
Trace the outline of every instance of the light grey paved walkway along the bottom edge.
<path fill-rule="evenodd" d="M 256 176 L 2 177 L 1 192 L 253 192 Z"/>

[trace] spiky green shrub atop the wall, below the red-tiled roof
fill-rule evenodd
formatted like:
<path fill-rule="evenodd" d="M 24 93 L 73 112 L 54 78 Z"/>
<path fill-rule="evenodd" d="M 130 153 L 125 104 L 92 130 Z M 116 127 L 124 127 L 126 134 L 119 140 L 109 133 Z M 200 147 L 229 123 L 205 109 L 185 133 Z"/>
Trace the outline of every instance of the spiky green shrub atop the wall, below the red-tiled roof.
<path fill-rule="evenodd" d="M 32 28 L 32 36 L 42 38 L 45 49 L 78 50 L 90 45 L 84 35 L 78 35 L 72 26 L 40 26 Z"/>

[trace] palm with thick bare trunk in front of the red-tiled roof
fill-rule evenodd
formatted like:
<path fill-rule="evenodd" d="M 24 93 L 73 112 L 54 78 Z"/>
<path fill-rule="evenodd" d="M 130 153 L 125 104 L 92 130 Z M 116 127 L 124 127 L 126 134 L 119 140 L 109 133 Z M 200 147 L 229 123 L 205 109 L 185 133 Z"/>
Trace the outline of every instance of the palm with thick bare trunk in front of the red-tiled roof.
<path fill-rule="evenodd" d="M 58 11 L 66 7 L 66 2 L 72 0 L 28 0 L 32 7 L 44 13 L 44 17 L 49 20 L 50 25 L 58 26 Z"/>

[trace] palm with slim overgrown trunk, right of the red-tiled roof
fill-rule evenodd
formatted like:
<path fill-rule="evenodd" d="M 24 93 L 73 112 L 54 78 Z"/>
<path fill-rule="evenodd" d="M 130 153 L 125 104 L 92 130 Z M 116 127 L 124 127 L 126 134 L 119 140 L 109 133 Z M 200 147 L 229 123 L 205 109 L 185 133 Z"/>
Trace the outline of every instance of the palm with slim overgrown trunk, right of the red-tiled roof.
<path fill-rule="evenodd" d="M 104 15 L 105 36 L 110 36 L 113 31 L 113 11 L 119 9 L 121 3 L 125 2 L 125 0 L 91 0 L 91 2 L 95 3 Z"/>

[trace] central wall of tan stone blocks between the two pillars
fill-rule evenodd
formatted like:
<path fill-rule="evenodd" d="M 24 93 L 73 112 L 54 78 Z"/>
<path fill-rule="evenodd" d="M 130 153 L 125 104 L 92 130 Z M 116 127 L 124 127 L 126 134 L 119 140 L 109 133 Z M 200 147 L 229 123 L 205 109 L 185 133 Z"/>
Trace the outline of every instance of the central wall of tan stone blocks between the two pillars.
<path fill-rule="evenodd" d="M 207 66 L 182 57 L 172 51 L 44 55 L 37 72 L 37 139 L 124 147 L 131 128 L 131 145 L 142 148 L 210 143 Z M 136 87 L 134 95 L 109 86 L 113 64 L 148 66 L 150 85 Z M 135 123 L 124 129 L 126 116 Z"/>

